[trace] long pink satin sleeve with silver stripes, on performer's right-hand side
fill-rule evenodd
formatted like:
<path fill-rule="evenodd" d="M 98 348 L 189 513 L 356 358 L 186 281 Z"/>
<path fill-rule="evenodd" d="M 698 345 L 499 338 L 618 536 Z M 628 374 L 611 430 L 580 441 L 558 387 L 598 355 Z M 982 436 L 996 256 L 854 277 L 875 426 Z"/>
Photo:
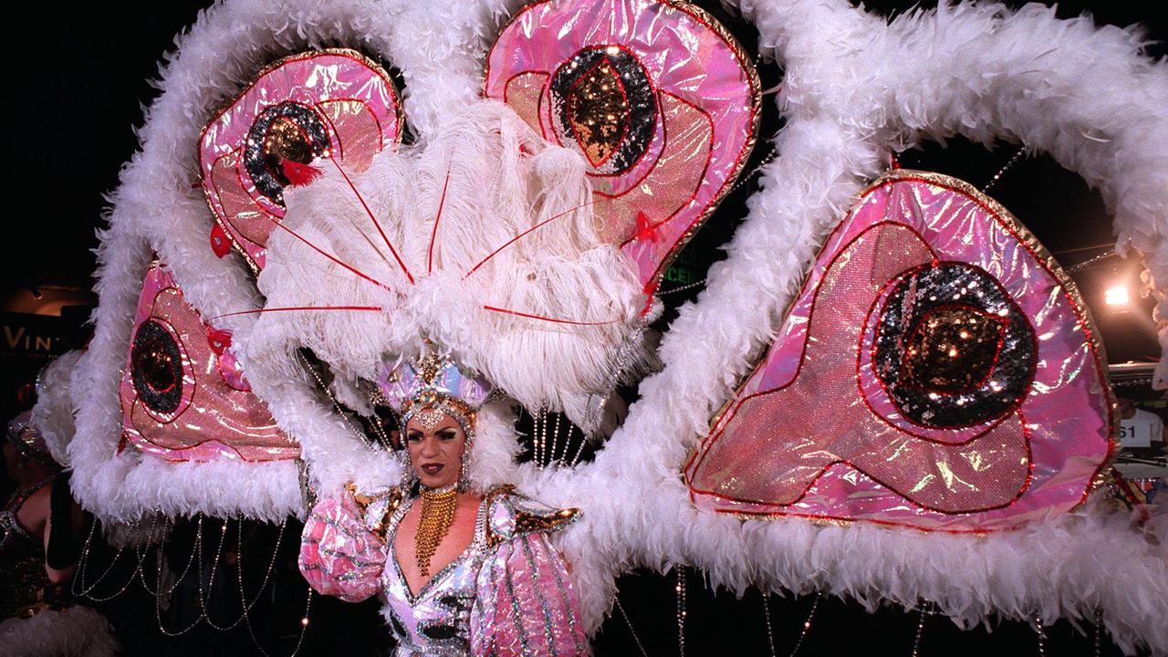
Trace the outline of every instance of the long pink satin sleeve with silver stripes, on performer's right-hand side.
<path fill-rule="evenodd" d="M 484 562 L 471 610 L 471 653 L 589 655 L 563 556 L 545 534 L 512 539 Z"/>

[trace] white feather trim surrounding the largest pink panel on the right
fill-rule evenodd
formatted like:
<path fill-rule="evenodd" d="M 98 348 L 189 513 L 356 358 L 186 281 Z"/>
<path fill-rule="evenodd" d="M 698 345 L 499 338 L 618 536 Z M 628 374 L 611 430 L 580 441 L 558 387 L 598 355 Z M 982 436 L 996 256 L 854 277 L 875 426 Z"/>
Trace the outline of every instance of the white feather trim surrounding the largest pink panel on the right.
<path fill-rule="evenodd" d="M 1126 651 L 1168 651 L 1162 517 L 1141 531 L 1092 505 L 985 539 L 739 521 L 697 512 L 679 476 L 751 354 L 772 338 L 825 233 L 889 151 L 917 139 L 961 133 L 1050 152 L 1103 191 L 1120 243 L 1138 244 L 1156 279 L 1168 281 L 1168 187 L 1155 182 L 1168 179 L 1168 67 L 1140 56 L 1132 33 L 1057 21 L 1037 6 L 945 6 L 891 26 L 843 1 L 742 8 L 786 71 L 781 157 L 767 166 L 728 260 L 666 334 L 665 371 L 641 383 L 641 400 L 596 463 L 524 470 L 528 490 L 545 502 L 584 507 L 563 546 L 586 582 L 586 618 L 596 627 L 610 609 L 620 572 L 676 562 L 739 592 L 819 588 L 906 607 L 931 600 L 966 624 L 995 614 L 1091 618 L 1098 608 Z"/>

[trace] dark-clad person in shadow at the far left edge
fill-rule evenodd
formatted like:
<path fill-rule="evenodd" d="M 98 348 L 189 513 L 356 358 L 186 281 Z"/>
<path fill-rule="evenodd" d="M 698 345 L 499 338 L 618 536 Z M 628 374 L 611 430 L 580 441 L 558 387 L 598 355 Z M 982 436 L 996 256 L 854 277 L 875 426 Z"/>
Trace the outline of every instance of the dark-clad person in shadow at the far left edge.
<path fill-rule="evenodd" d="M 109 623 L 74 606 L 68 583 L 83 516 L 30 413 L 8 423 L 5 469 L 16 490 L 0 509 L 0 653 L 100 657 L 117 642 Z"/>

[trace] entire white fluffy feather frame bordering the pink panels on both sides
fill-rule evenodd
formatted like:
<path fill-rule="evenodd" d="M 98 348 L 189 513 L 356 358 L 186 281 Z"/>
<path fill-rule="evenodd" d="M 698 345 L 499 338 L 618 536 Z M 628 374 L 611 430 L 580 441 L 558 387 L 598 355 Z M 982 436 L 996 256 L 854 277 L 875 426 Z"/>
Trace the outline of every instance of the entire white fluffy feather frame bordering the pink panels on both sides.
<path fill-rule="evenodd" d="M 200 130 L 265 63 L 341 42 L 401 68 L 405 115 L 424 145 L 479 97 L 484 54 L 515 9 L 499 1 L 236 1 L 206 12 L 179 40 L 141 131 L 142 151 L 112 198 L 97 331 L 71 375 L 77 434 L 68 456 L 86 507 L 118 520 L 153 510 L 258 518 L 303 511 L 291 463 L 175 466 L 114 454 L 118 382 L 152 253 L 203 317 L 262 305 L 244 264 L 220 261 L 207 245 L 213 219 L 192 188 Z M 758 27 L 764 55 L 784 67 L 786 126 L 728 260 L 681 309 L 660 347 L 663 371 L 641 382 L 640 401 L 595 463 L 554 472 L 515 465 L 514 417 L 496 408 L 480 421 L 477 478 L 512 479 L 547 503 L 583 509 L 583 524 L 563 534 L 562 547 L 593 629 L 618 574 L 687 563 L 739 592 L 819 589 L 871 606 L 929 600 L 962 623 L 994 614 L 1092 618 L 1098 609 L 1125 649 L 1168 650 L 1168 561 L 1156 546 L 1168 540 L 1163 517 L 1140 533 L 1089 504 L 986 537 L 742 521 L 697 511 L 680 476 L 688 450 L 771 339 L 828 229 L 891 151 L 962 134 L 1048 152 L 1103 193 L 1120 248 L 1138 248 L 1155 279 L 1168 281 L 1168 67 L 1139 54 L 1134 32 L 1056 20 L 1038 6 L 941 6 L 890 23 L 844 0 L 743 1 L 741 11 Z M 1157 312 L 1168 317 L 1162 297 Z M 252 389 L 300 441 L 322 486 L 396 478 L 394 461 L 368 450 L 303 369 L 246 361 L 252 344 L 263 344 L 255 316 L 223 318 L 222 327 L 234 333 Z M 1168 346 L 1168 328 L 1160 336 Z M 1157 382 L 1164 379 L 1161 364 Z M 230 497 L 222 492 L 228 483 Z"/>

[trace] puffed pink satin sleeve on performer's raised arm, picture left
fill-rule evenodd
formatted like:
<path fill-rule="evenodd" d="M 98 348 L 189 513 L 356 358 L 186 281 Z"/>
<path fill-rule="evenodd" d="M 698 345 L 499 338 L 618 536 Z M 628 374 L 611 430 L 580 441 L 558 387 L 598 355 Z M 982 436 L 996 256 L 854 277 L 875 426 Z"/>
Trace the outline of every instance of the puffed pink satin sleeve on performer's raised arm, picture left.
<path fill-rule="evenodd" d="M 348 495 L 322 499 L 300 538 L 300 573 L 325 595 L 361 602 L 381 588 L 385 544 L 361 521 Z"/>

